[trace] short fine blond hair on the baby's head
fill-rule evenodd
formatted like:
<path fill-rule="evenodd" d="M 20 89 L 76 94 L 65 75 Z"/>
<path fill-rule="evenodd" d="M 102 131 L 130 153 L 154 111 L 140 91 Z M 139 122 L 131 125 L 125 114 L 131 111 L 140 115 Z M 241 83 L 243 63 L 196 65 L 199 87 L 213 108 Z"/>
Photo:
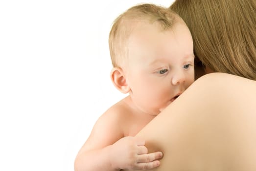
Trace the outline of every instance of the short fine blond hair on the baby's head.
<path fill-rule="evenodd" d="M 139 4 L 129 8 L 113 22 L 109 34 L 109 49 L 113 67 L 120 66 L 128 56 L 128 40 L 138 23 L 157 23 L 161 30 L 172 28 L 179 16 L 154 4 Z M 181 20 L 181 18 L 179 18 Z"/>

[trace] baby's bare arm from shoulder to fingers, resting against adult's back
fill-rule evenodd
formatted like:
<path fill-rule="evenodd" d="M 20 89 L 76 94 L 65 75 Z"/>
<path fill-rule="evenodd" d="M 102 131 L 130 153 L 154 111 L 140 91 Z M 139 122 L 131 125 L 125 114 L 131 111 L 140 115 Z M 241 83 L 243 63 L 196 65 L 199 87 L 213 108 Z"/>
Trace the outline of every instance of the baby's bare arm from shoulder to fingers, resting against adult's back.
<path fill-rule="evenodd" d="M 75 159 L 75 171 L 145 170 L 159 166 L 162 152 L 147 153 L 139 137 L 123 137 L 118 114 L 106 112 Z"/>

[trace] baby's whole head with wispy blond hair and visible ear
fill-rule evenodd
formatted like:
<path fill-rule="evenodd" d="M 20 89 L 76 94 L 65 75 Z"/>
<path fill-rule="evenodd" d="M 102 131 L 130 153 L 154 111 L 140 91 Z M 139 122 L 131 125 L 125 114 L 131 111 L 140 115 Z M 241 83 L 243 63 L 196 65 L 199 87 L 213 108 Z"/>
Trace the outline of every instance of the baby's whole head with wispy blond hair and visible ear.
<path fill-rule="evenodd" d="M 113 84 L 145 113 L 158 114 L 194 81 L 191 34 L 167 8 L 128 9 L 115 20 L 109 45 Z"/>

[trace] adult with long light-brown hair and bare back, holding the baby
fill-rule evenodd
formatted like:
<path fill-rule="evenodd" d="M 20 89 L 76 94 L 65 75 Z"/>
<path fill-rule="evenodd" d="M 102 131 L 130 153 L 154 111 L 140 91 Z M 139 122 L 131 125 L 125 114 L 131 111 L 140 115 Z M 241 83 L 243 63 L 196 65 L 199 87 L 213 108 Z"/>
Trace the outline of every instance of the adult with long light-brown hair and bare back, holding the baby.
<path fill-rule="evenodd" d="M 155 170 L 256 171 L 256 1 L 176 0 L 170 9 L 188 25 L 201 71 L 218 73 L 138 133 L 164 153 Z"/>

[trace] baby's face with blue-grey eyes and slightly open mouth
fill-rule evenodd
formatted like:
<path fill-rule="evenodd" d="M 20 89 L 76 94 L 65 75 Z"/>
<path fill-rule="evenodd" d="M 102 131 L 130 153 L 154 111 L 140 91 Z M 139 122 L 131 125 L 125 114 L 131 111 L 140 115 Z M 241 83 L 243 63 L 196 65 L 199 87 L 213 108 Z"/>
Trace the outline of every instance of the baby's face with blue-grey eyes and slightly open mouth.
<path fill-rule="evenodd" d="M 159 114 L 194 82 L 193 41 L 185 24 L 167 31 L 140 24 L 128 49 L 126 80 L 133 101 L 144 112 Z"/>

